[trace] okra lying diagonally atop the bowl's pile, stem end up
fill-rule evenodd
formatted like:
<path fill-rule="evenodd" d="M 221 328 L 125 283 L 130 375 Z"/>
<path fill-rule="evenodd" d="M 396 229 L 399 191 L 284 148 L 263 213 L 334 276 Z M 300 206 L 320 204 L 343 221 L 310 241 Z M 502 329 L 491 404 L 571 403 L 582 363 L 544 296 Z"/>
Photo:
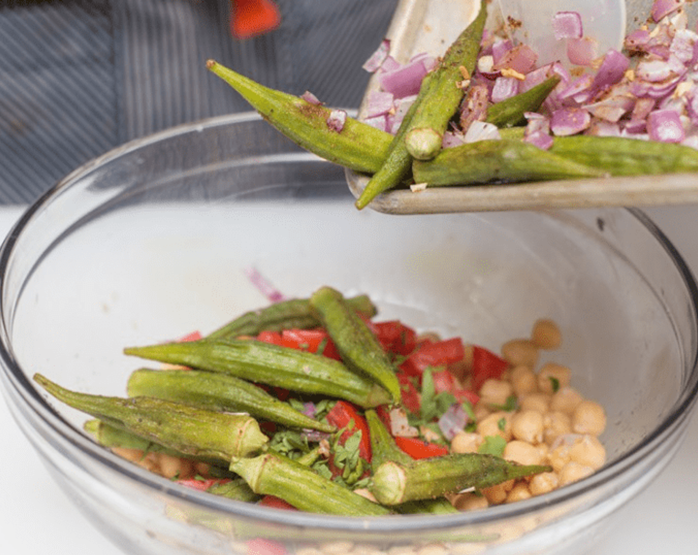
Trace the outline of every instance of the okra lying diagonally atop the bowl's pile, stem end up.
<path fill-rule="evenodd" d="M 392 395 L 394 403 L 399 404 L 401 390 L 392 362 L 376 335 L 350 309 L 343 295 L 331 287 L 321 287 L 311 296 L 310 304 L 343 362 L 350 369 L 376 380 Z"/>

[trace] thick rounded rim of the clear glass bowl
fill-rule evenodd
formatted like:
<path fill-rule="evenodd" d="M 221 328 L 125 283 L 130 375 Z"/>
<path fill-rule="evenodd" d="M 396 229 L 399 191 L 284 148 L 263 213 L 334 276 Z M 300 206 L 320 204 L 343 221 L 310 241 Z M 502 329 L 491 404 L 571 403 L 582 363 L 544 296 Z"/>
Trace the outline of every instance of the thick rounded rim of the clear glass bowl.
<path fill-rule="evenodd" d="M 350 112 L 350 114 L 353 113 L 352 110 L 348 110 L 348 112 Z M 193 124 L 183 124 L 144 138 L 127 142 L 80 166 L 80 168 L 71 172 L 55 186 L 46 191 L 46 193 L 41 195 L 17 220 L 17 223 L 15 223 L 12 230 L 10 230 L 10 233 L 0 248 L 0 276 L 4 275 L 7 271 L 8 262 L 17 244 L 17 239 L 22 235 L 22 231 L 27 227 L 28 223 L 31 222 L 33 214 L 43 209 L 47 203 L 50 203 L 54 195 L 61 193 L 71 186 L 76 186 L 76 184 L 79 186 L 82 177 L 89 174 L 89 172 L 93 171 L 95 168 L 152 143 L 166 142 L 179 135 L 200 133 L 211 128 L 231 126 L 238 122 L 255 120 L 262 121 L 261 117 L 256 112 L 242 112 L 239 114 L 205 119 Z M 299 156 L 306 156 L 306 154 L 302 153 L 299 154 Z M 646 216 L 646 214 L 644 214 L 644 212 L 633 208 L 619 208 L 618 210 L 629 212 L 667 251 L 669 258 L 676 265 L 676 269 L 679 274 L 681 274 L 688 290 L 692 312 L 695 315 L 698 314 L 698 285 L 681 254 L 678 253 L 674 245 L 671 244 L 664 233 L 648 218 L 648 216 Z M 135 480 L 135 482 L 138 482 L 142 486 L 157 492 L 159 496 L 171 496 L 175 501 L 179 500 L 198 505 L 203 510 L 228 513 L 232 518 L 262 521 L 272 525 L 325 529 L 328 531 L 362 531 L 364 533 L 396 533 L 400 531 L 410 531 L 414 533 L 420 530 L 436 531 L 438 529 L 447 530 L 449 528 L 459 528 L 463 526 L 493 524 L 497 521 L 525 516 L 526 514 L 530 514 L 530 512 L 551 510 L 556 506 L 581 498 L 585 494 L 602 487 L 604 484 L 612 482 L 614 478 L 623 475 L 636 461 L 641 460 L 645 454 L 656 449 L 659 445 L 664 443 L 664 441 L 668 441 L 674 434 L 674 431 L 689 417 L 696 399 L 698 398 L 698 352 L 695 352 L 690 361 L 690 371 L 685 378 L 685 387 L 680 397 L 671 410 L 669 410 L 667 416 L 664 417 L 641 442 L 634 445 L 628 452 L 625 452 L 621 457 L 618 457 L 618 459 L 615 459 L 600 471 L 594 473 L 591 477 L 567 485 L 562 489 L 552 491 L 549 494 L 535 496 L 525 501 L 494 506 L 486 511 L 463 512 L 456 515 L 400 515 L 396 518 L 338 517 L 306 512 L 292 512 L 259 507 L 251 503 L 232 501 L 227 498 L 179 486 L 170 482 L 170 480 L 161 478 L 121 459 L 121 457 L 112 454 L 94 441 L 91 441 L 87 436 L 84 436 L 81 431 L 68 424 L 68 422 L 66 422 L 66 420 L 38 394 L 34 386 L 31 385 L 29 378 L 27 378 L 20 366 L 15 362 L 5 321 L 5 308 L 3 286 L 0 281 L 0 357 L 3 361 L 3 371 L 7 374 L 8 385 L 15 388 L 18 397 L 26 404 L 24 408 L 31 410 L 34 417 L 38 418 L 45 427 L 59 434 L 59 436 L 61 436 L 64 441 L 70 443 L 75 450 L 79 450 L 83 454 L 98 461 L 99 464 L 112 468 L 121 475 Z M 694 336 L 698 334 L 698 322 L 695 323 L 695 326 L 696 328 L 693 330 Z M 69 457 L 70 454 L 67 453 L 63 456 Z"/>

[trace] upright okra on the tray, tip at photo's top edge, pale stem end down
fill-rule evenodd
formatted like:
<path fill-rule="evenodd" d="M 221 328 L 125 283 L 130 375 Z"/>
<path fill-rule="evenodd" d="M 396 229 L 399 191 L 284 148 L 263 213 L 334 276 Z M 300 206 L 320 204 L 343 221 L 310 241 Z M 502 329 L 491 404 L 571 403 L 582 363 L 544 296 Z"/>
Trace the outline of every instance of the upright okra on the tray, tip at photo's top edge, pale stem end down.
<path fill-rule="evenodd" d="M 475 71 L 486 20 L 487 1 L 481 0 L 475 20 L 456 38 L 436 68 L 424 77 L 417 96 L 417 110 L 405 137 L 413 158 L 429 160 L 440 151 L 443 133 L 463 100 L 461 82 L 468 82 Z"/>

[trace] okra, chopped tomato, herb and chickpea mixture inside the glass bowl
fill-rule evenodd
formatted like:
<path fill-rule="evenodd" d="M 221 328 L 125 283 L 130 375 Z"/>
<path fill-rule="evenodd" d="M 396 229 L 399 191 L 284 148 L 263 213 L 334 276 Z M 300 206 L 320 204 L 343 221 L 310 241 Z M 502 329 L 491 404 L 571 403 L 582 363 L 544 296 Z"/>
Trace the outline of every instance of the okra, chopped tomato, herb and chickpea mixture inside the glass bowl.
<path fill-rule="evenodd" d="M 136 464 L 240 501 L 350 516 L 447 513 L 547 493 L 605 461 L 604 408 L 540 363 L 547 319 L 500 355 L 376 320 L 323 287 L 202 337 L 126 348 L 128 397 L 36 381 Z"/>

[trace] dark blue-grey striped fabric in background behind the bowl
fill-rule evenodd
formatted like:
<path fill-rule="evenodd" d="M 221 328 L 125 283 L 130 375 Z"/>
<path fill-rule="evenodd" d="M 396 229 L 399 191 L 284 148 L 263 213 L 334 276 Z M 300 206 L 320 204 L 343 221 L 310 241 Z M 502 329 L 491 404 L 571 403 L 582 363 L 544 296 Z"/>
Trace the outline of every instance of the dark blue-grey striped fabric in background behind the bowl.
<path fill-rule="evenodd" d="M 31 202 L 122 142 L 248 105 L 214 58 L 269 87 L 356 108 L 396 0 L 277 0 L 238 41 L 228 0 L 0 2 L 0 204 Z"/>

